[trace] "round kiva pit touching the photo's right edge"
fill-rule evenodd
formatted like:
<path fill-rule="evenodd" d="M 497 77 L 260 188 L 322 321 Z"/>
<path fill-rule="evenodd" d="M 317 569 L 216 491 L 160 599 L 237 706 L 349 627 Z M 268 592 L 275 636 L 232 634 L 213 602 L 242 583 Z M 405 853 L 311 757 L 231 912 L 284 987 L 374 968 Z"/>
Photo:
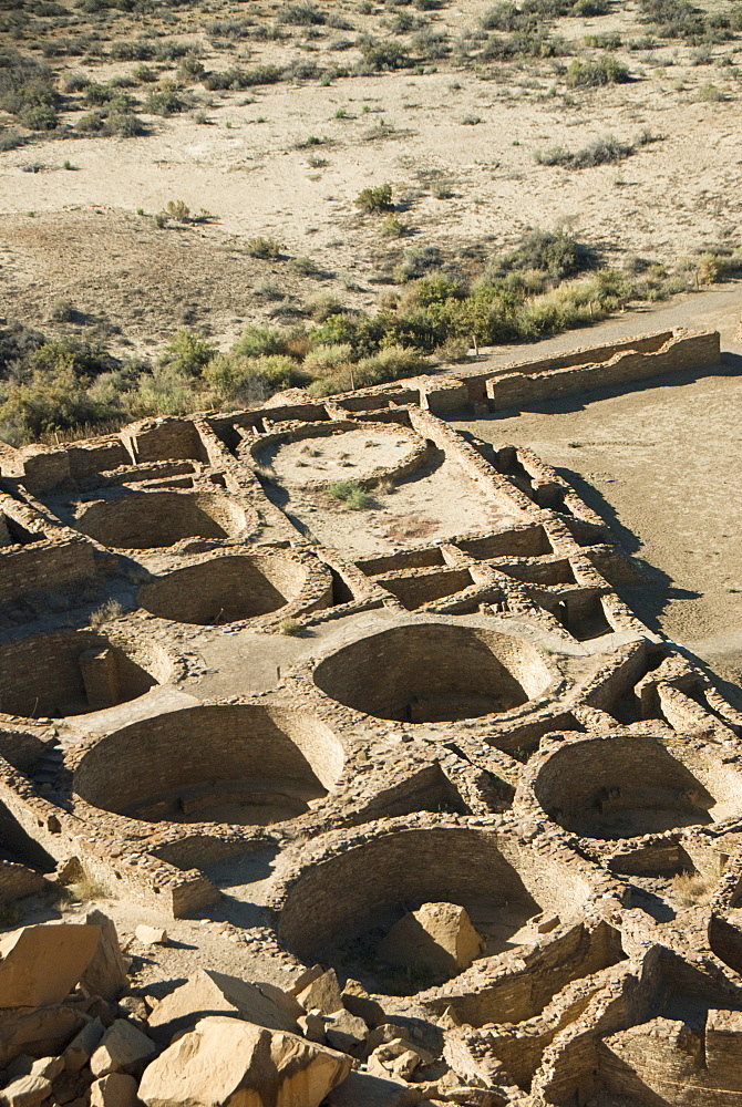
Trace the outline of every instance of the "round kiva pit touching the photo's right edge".
<path fill-rule="evenodd" d="M 704 753 L 705 768 L 683 764 L 648 735 L 569 743 L 539 767 L 534 792 L 549 818 L 585 838 L 612 840 L 719 823 L 742 801 L 742 778 Z"/>

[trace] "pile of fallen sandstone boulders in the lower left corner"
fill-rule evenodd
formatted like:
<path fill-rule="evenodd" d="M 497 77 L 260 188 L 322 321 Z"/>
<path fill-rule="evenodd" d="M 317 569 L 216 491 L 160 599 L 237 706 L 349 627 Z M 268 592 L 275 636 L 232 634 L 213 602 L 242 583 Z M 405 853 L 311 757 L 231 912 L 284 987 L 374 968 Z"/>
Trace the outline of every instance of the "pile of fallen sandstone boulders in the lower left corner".
<path fill-rule="evenodd" d="M 475 933 L 433 907 L 442 941 Z M 100 911 L 87 918 L 0 941 L 0 1107 L 497 1101 L 446 1072 L 414 1020 L 389 1021 L 358 982 L 341 989 L 333 970 L 307 970 L 291 991 L 199 970 L 145 1000 L 113 922 Z"/>

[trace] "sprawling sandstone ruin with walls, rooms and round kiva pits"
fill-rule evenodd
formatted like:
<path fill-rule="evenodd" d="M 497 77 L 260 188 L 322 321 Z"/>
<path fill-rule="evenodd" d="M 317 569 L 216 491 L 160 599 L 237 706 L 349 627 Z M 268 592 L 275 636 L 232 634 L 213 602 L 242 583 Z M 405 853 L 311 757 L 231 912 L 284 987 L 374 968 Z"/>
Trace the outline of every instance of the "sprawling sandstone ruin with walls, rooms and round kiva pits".
<path fill-rule="evenodd" d="M 93 1107 L 742 1103 L 742 714 L 506 418 L 446 422 L 718 360 L 663 332 L 3 447 L 0 902 L 84 873 L 218 909 L 291 981 L 204 964 L 153 1010 L 91 984 L 102 917 L 6 934 L 3 1104 L 84 1107 L 50 1076 L 71 1049 Z M 23 941 L 75 929 L 31 986 Z M 226 1066 L 208 1094 L 194 1056 Z"/>

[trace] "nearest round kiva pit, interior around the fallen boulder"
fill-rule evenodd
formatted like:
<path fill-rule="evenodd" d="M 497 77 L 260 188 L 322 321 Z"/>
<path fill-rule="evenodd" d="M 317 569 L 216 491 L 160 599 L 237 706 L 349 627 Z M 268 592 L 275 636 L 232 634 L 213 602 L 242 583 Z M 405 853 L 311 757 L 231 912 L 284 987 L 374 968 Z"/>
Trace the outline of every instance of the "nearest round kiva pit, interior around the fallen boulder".
<path fill-rule="evenodd" d="M 287 887 L 278 934 L 289 950 L 308 963 L 334 964 L 372 991 L 408 995 L 431 984 L 424 972 L 400 971 L 390 948 L 408 911 L 422 904 L 464 908 L 482 940 L 476 960 L 533 941 L 528 920 L 545 908 L 567 917 L 590 894 L 584 878 L 571 880 L 556 861 L 534 868 L 501 836 L 460 826 L 395 829 L 351 841 L 308 865 Z M 451 965 L 445 975 L 457 971 Z"/>

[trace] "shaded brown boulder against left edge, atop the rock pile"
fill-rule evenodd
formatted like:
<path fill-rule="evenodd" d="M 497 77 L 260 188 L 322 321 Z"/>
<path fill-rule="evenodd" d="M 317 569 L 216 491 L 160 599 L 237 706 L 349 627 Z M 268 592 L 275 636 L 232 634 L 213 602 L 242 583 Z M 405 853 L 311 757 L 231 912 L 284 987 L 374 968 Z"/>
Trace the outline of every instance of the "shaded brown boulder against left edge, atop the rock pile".
<path fill-rule="evenodd" d="M 97 927 L 23 927 L 0 940 L 0 1007 L 61 1003 L 93 959 Z"/>

